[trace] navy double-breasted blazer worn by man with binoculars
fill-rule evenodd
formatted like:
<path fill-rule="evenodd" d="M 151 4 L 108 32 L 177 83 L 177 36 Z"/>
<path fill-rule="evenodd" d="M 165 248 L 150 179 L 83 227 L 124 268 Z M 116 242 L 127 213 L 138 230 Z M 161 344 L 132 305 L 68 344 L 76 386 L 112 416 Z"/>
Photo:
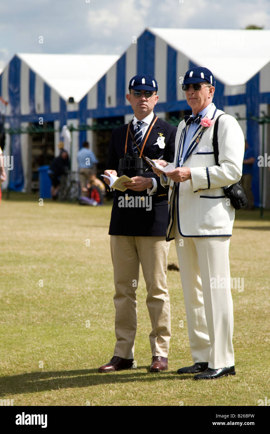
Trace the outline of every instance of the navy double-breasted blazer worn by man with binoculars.
<path fill-rule="evenodd" d="M 151 127 L 155 118 L 156 115 L 154 115 L 149 128 Z M 128 124 L 119 128 L 115 128 L 111 134 L 107 169 L 115 170 L 117 171 L 117 174 L 119 160 L 120 158 L 124 158 L 127 127 Z M 143 136 L 140 148 L 143 145 L 149 128 Z M 134 135 L 133 122 L 130 123 L 130 131 Z M 158 159 L 163 155 L 164 160 L 173 161 L 176 131 L 177 128 L 175 126 L 170 125 L 158 118 L 153 125 L 150 135 L 146 141 L 145 147 L 143 149 L 143 155 L 151 159 Z M 157 138 L 159 137 L 158 133 L 163 133 L 163 137 L 165 137 L 165 148 L 163 149 L 159 148 L 159 145 L 155 145 Z M 129 155 L 134 155 L 133 146 L 134 142 L 129 134 L 127 139 L 127 153 Z M 147 189 L 144 191 L 133 191 L 128 188 L 124 192 L 115 190 L 114 204 L 112 207 L 111 223 L 109 228 L 110 235 L 124 235 L 133 237 L 162 237 L 166 235 L 168 220 L 168 191 L 161 186 L 159 176 L 154 174 L 151 168 L 148 171 L 145 171 L 148 167 L 149 165 L 143 159 L 143 176 L 146 178 L 156 179 L 156 193 L 148 197 Z M 133 169 L 126 170 L 124 174 L 132 178 L 136 176 L 136 171 Z M 139 201 L 141 201 L 140 197 L 144 197 L 144 199 L 147 197 L 148 208 L 146 206 L 128 207 L 129 203 L 131 205 L 131 200 L 127 199 L 124 199 L 124 203 L 126 205 L 125 207 L 119 206 L 123 204 L 123 200 L 121 198 L 125 198 L 126 195 L 128 198 L 134 197 L 134 203 L 137 202 L 137 204 L 139 204 Z M 136 200 L 136 197 L 139 197 L 139 199 Z M 142 203 L 143 201 L 141 201 L 141 204 Z M 146 201 L 145 204 L 147 205 Z"/>

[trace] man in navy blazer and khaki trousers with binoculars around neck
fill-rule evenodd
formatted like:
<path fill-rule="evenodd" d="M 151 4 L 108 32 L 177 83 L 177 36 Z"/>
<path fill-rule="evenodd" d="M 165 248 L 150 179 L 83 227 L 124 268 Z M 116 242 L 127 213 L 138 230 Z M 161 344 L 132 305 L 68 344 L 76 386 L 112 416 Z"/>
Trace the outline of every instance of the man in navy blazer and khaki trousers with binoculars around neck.
<path fill-rule="evenodd" d="M 114 266 L 115 334 L 114 356 L 101 366 L 99 372 L 117 371 L 133 365 L 134 342 L 137 329 L 136 290 L 140 264 L 146 282 L 146 305 L 152 331 L 151 372 L 168 367 L 170 330 L 170 302 L 166 285 L 166 243 L 168 193 L 160 185 L 144 157 L 173 161 L 177 128 L 153 113 L 158 101 L 156 80 L 149 75 L 137 75 L 130 80 L 129 94 L 134 116 L 130 124 L 113 130 L 108 151 L 106 175 L 117 175 L 120 159 L 127 154 L 141 158 L 143 168 L 127 168 L 124 174 L 133 182 L 126 182 L 127 190 L 115 191 L 109 234 Z M 109 181 L 104 178 L 107 184 Z"/>

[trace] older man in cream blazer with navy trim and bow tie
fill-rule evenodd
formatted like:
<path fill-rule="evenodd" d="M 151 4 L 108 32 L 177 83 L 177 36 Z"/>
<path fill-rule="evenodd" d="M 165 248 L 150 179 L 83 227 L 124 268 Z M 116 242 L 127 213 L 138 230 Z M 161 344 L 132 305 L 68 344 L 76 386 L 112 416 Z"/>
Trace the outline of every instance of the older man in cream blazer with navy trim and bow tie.
<path fill-rule="evenodd" d="M 182 87 L 192 115 L 178 126 L 176 169 L 166 176 L 155 170 L 163 186 L 169 186 L 166 238 L 176 243 L 194 362 L 177 372 L 194 373 L 195 380 L 220 378 L 235 375 L 229 265 L 234 208 L 222 187 L 241 178 L 244 135 L 234 117 L 219 118 L 216 165 L 213 130 L 224 112 L 212 103 L 215 78 L 209 69 L 194 67 Z"/>

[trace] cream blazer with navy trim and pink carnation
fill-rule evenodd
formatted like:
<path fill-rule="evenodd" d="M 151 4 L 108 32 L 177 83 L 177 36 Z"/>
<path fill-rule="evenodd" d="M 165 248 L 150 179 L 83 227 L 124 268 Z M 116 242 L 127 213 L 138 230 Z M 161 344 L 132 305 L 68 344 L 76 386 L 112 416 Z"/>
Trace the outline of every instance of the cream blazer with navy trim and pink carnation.
<path fill-rule="evenodd" d="M 206 117 L 215 120 L 222 112 L 212 103 Z M 184 138 L 187 132 L 185 121 L 180 122 L 175 142 L 174 165 L 179 167 Z M 189 167 L 191 180 L 175 183 L 160 176 L 161 184 L 169 185 L 169 220 L 167 240 L 174 239 L 175 198 L 177 197 L 177 224 L 183 237 L 230 237 L 234 223 L 234 207 L 229 204 L 221 187 L 234 184 L 242 175 L 244 158 L 244 135 L 237 120 L 223 115 L 218 120 L 218 162 L 215 164 L 212 146 L 214 125 L 202 130 L 198 126 L 183 167 Z M 195 139 L 202 132 L 197 144 Z"/>

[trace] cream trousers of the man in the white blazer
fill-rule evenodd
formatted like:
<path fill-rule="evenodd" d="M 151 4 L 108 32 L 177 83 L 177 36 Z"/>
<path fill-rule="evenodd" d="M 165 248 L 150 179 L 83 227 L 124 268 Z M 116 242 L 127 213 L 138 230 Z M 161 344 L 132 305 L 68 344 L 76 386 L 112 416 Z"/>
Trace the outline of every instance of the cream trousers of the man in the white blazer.
<path fill-rule="evenodd" d="M 234 317 L 231 285 L 227 285 L 230 237 L 182 237 L 176 224 L 175 242 L 193 362 L 208 362 L 212 369 L 231 367 Z M 222 281 L 226 284 L 220 284 Z"/>

